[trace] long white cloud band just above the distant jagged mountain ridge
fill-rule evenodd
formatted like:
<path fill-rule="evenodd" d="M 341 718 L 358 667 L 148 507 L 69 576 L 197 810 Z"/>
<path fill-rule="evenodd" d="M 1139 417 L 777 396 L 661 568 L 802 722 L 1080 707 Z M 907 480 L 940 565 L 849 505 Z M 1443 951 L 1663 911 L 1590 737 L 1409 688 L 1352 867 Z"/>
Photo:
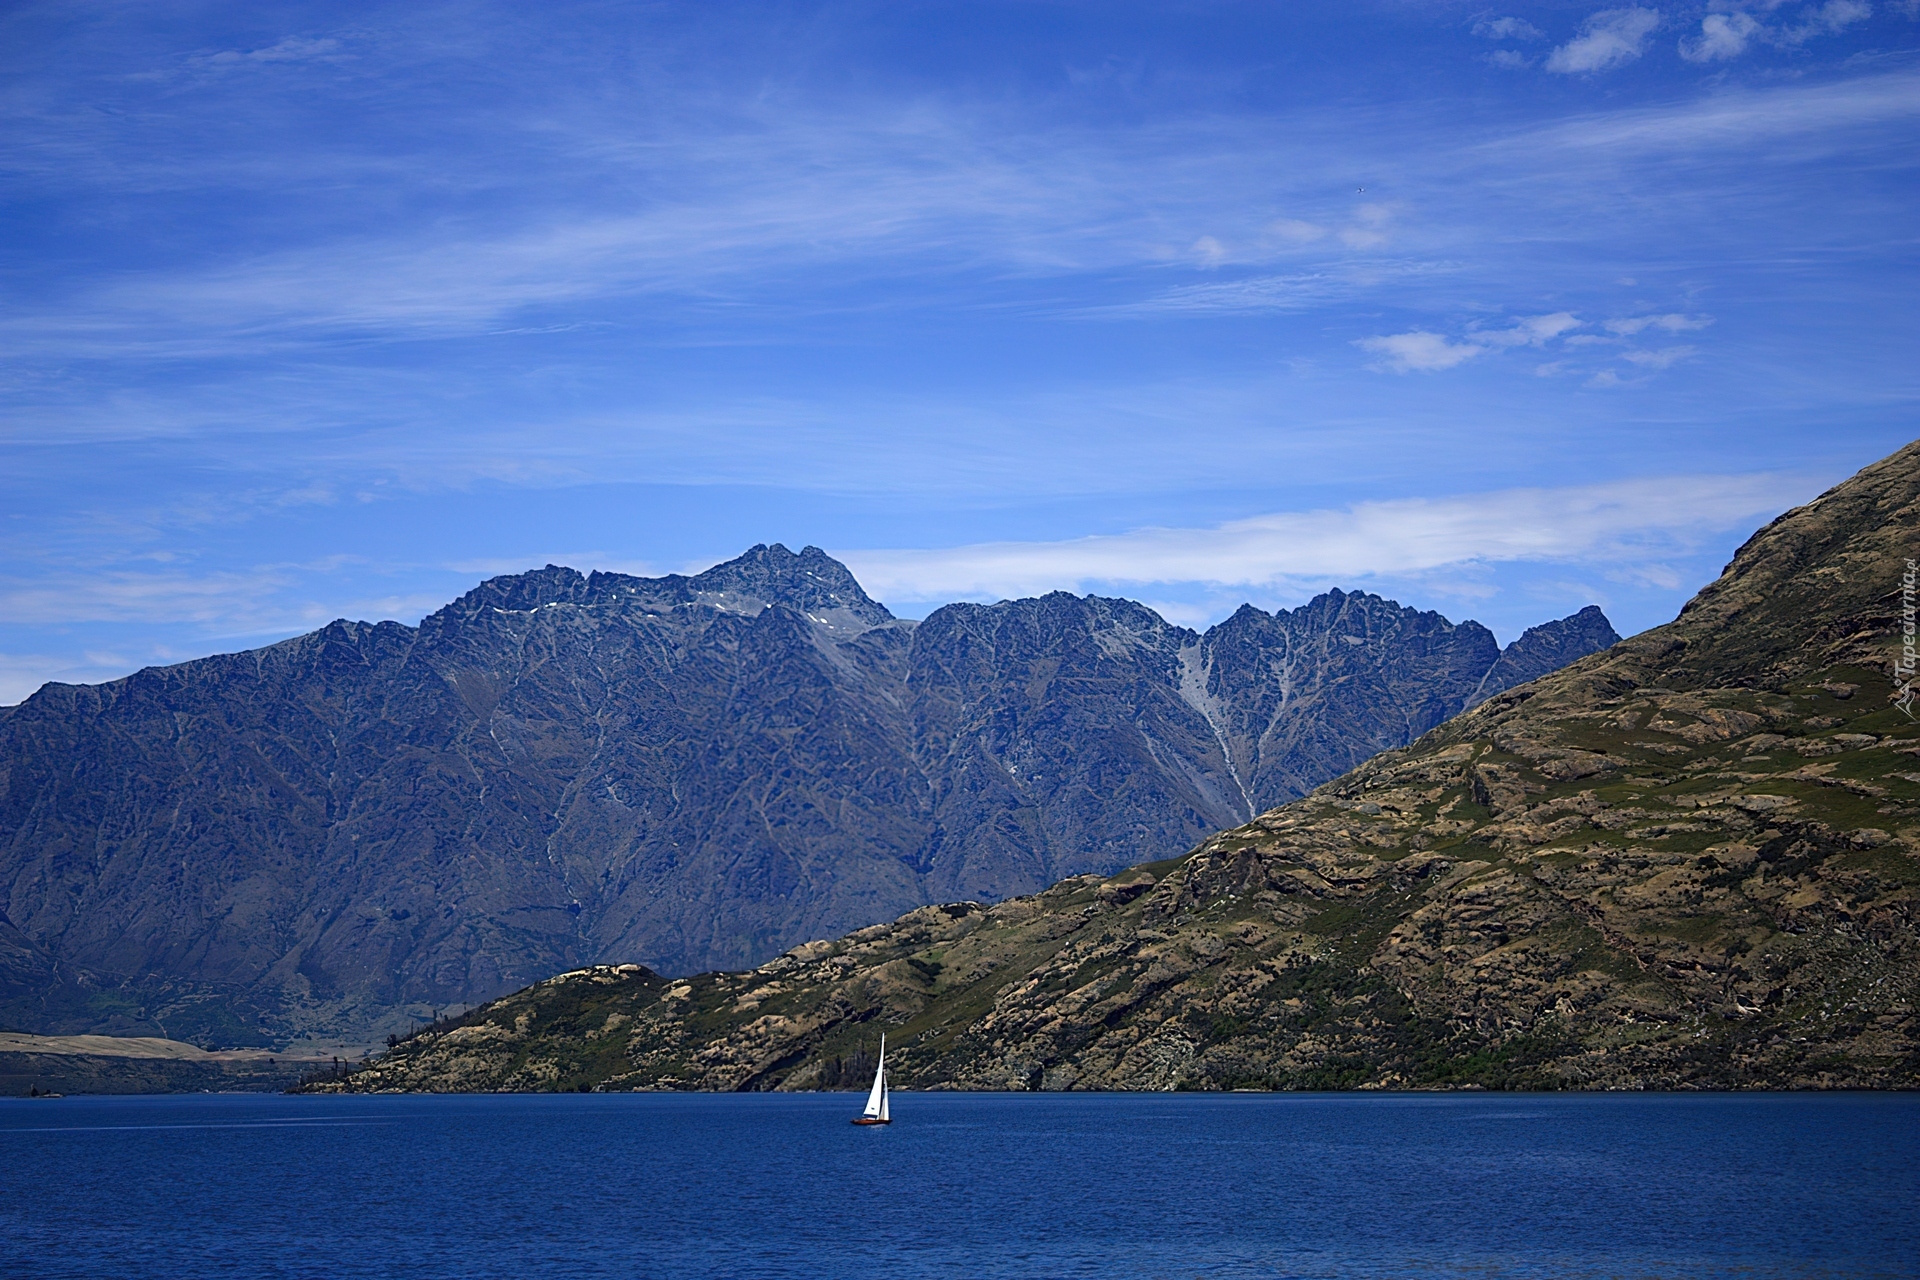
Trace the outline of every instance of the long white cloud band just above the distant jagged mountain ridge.
<path fill-rule="evenodd" d="M 1509 560 L 1644 566 L 1705 533 L 1778 514 L 1809 487 L 1805 478 L 1784 474 L 1663 476 L 1277 512 L 1200 530 L 833 555 L 876 597 L 916 601 L 1041 595 L 1087 583 L 1354 583 Z"/>

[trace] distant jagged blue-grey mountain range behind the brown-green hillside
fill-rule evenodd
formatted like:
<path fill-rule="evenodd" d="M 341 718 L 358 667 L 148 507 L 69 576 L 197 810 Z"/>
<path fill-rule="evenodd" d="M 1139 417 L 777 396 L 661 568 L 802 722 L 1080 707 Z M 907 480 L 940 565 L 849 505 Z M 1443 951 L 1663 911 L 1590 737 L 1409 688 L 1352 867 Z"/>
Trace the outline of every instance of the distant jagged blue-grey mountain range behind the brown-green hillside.
<path fill-rule="evenodd" d="M 1613 639 L 1501 654 L 1340 591 L 1206 635 L 1064 593 L 912 624 L 778 545 L 495 578 L 0 712 L 0 1021 L 246 1044 L 758 963 L 1188 848 Z"/>

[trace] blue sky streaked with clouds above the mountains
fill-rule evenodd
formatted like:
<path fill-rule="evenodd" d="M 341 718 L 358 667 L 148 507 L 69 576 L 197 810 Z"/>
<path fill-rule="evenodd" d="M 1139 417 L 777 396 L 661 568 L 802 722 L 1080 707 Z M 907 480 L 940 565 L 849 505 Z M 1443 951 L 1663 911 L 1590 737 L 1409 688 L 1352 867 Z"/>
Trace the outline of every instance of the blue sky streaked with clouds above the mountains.
<path fill-rule="evenodd" d="M 1920 434 L 1916 10 L 10 6 L 0 702 L 760 541 L 1665 622 Z"/>

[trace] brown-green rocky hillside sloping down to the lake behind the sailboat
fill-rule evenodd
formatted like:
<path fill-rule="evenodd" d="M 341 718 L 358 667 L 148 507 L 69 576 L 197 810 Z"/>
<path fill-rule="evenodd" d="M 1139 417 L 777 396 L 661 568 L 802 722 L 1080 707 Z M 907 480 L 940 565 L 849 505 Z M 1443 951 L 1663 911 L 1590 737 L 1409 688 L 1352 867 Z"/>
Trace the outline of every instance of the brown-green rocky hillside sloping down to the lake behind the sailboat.
<path fill-rule="evenodd" d="M 1187 858 L 566 973 L 328 1088 L 831 1088 L 881 1031 L 904 1088 L 1920 1086 L 1916 532 L 1920 445 L 1676 622 Z"/>

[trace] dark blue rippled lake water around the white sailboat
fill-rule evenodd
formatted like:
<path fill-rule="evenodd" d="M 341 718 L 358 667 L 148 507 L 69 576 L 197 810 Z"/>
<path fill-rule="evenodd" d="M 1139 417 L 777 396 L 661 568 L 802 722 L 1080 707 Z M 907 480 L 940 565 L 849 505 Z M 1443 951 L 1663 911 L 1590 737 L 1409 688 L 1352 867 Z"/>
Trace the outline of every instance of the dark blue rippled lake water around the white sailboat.
<path fill-rule="evenodd" d="M 15 1276 L 1920 1276 L 1920 1096 L 0 1102 Z"/>

